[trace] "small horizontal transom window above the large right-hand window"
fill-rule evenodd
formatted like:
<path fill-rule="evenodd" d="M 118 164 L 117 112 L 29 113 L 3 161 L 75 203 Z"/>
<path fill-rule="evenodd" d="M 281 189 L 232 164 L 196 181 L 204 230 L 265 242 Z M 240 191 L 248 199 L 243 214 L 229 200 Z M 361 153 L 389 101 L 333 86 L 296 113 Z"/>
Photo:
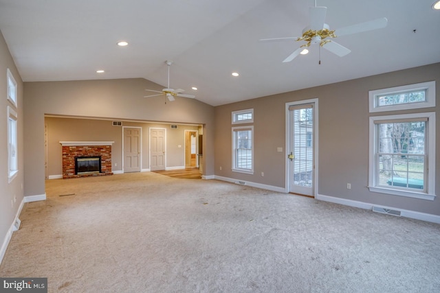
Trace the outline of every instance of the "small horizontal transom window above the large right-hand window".
<path fill-rule="evenodd" d="M 408 110 L 435 106 L 435 82 L 369 91 L 370 112 Z"/>

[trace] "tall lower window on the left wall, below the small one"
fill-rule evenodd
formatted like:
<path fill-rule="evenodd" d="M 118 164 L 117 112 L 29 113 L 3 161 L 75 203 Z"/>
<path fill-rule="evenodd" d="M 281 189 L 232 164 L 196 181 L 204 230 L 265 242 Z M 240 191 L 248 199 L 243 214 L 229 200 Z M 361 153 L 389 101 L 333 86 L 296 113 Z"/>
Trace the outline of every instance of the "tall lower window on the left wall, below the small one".
<path fill-rule="evenodd" d="M 18 151 L 18 117 L 17 112 L 8 106 L 8 182 L 10 183 L 19 172 Z"/>

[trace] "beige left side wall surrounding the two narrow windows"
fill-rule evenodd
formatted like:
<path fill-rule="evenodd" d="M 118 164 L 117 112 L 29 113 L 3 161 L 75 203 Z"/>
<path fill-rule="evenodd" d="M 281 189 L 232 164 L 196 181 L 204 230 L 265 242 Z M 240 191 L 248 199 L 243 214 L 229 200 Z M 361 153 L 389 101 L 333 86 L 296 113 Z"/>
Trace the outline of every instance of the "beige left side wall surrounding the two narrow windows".
<path fill-rule="evenodd" d="M 10 69 L 14 79 L 17 82 L 17 118 L 18 118 L 18 159 L 19 172 L 17 177 L 10 183 L 8 182 L 8 111 L 7 107 L 12 106 L 8 101 L 6 93 L 8 86 L 6 83 L 6 70 Z M 0 32 L 0 248 L 8 239 L 8 230 L 14 222 L 14 217 L 19 211 L 21 202 L 23 201 L 23 82 L 14 60 L 5 43 L 3 34 Z M 0 261 L 1 253 L 0 250 Z"/>

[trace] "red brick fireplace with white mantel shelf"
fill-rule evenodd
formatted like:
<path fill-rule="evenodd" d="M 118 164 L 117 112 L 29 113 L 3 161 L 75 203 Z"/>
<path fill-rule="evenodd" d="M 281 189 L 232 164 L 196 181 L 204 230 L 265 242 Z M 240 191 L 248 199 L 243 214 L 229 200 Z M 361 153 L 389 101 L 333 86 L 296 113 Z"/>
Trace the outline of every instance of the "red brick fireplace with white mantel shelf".
<path fill-rule="evenodd" d="M 63 146 L 63 179 L 113 175 L 111 145 L 114 141 L 60 141 Z M 100 158 L 100 172 L 77 172 L 78 158 Z"/>

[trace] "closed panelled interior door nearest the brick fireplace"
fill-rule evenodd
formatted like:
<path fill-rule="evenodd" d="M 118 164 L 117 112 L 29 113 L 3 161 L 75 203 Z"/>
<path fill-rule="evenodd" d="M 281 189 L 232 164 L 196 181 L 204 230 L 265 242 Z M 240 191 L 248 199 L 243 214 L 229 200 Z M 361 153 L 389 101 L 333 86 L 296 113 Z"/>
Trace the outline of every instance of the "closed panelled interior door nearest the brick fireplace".
<path fill-rule="evenodd" d="M 124 127 L 124 173 L 140 172 L 140 131 Z"/>

